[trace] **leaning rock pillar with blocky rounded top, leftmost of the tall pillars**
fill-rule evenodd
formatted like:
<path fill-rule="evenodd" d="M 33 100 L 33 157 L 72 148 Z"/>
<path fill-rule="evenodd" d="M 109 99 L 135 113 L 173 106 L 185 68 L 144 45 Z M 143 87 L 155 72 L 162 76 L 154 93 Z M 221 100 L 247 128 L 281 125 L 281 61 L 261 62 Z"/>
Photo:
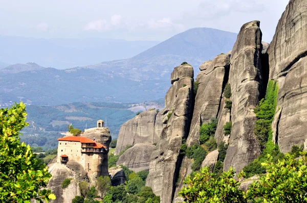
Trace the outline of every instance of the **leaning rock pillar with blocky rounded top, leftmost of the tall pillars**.
<path fill-rule="evenodd" d="M 193 68 L 182 65 L 171 74 L 172 86 L 165 96 L 162 120 L 167 123 L 157 148 L 150 156 L 149 174 L 146 186 L 160 195 L 161 202 L 171 202 L 176 185 L 181 159 L 179 158 L 182 139 L 188 136 L 191 108 L 193 103 Z"/>

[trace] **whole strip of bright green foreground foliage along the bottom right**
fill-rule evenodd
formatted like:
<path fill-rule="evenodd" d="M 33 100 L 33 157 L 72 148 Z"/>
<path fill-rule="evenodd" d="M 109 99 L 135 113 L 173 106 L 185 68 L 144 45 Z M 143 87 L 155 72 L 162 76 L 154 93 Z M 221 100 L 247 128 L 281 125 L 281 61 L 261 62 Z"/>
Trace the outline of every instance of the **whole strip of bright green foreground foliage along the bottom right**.
<path fill-rule="evenodd" d="M 300 153 L 296 159 L 286 154 L 274 163 L 273 156 L 267 155 L 267 161 L 261 165 L 267 173 L 253 182 L 247 192 L 239 190 L 242 171 L 235 180 L 234 170 L 216 176 L 209 169 L 202 168 L 193 178 L 184 181 L 186 187 L 179 192 L 189 202 L 306 202 L 307 201 L 307 153 Z"/>

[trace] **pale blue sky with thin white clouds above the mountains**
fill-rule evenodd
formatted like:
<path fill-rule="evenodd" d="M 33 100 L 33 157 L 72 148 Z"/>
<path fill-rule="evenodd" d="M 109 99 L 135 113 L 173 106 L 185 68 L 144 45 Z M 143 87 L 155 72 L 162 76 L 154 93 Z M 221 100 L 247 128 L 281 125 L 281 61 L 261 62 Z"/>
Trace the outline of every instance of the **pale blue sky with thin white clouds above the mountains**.
<path fill-rule="evenodd" d="M 190 28 L 238 33 L 260 20 L 270 42 L 289 0 L 0 0 L 0 35 L 163 41 Z"/>

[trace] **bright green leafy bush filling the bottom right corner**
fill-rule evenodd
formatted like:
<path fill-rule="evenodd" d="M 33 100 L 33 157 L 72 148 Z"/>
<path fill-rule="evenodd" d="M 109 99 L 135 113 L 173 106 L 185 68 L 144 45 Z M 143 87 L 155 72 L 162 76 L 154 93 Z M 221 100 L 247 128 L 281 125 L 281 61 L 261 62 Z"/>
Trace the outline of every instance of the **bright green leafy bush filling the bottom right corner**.
<path fill-rule="evenodd" d="M 295 160 L 287 154 L 277 163 L 268 155 L 268 162 L 262 163 L 267 174 L 250 185 L 247 197 L 252 202 L 307 202 L 307 154 L 301 155 Z"/>

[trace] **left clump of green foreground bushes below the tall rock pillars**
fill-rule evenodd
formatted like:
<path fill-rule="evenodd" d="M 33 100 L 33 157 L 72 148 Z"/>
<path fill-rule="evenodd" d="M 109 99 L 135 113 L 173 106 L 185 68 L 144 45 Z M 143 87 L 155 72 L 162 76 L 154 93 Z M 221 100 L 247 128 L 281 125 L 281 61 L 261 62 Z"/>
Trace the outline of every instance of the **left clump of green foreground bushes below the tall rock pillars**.
<path fill-rule="evenodd" d="M 189 175 L 179 194 L 189 202 L 247 202 L 245 194 L 238 187 L 240 183 L 233 179 L 234 169 L 223 172 L 215 177 L 205 167 L 194 174 L 193 179 Z"/>

